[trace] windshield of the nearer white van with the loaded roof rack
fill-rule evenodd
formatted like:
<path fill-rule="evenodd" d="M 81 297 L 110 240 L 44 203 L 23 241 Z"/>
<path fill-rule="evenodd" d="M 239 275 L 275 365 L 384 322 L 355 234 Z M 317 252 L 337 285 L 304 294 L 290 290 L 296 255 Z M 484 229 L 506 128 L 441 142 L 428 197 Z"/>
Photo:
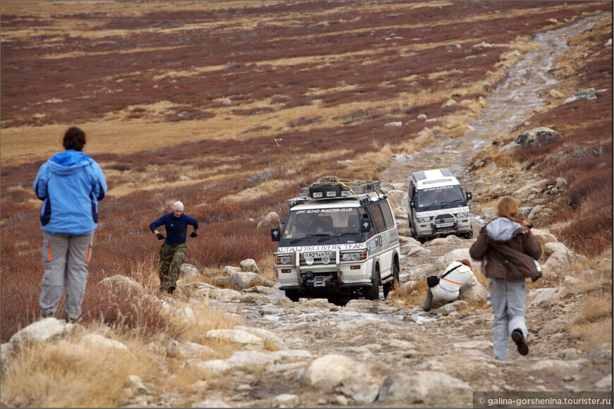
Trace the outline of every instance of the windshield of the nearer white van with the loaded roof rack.
<path fill-rule="evenodd" d="M 279 245 L 356 243 L 360 237 L 358 207 L 295 210 L 288 214 Z"/>

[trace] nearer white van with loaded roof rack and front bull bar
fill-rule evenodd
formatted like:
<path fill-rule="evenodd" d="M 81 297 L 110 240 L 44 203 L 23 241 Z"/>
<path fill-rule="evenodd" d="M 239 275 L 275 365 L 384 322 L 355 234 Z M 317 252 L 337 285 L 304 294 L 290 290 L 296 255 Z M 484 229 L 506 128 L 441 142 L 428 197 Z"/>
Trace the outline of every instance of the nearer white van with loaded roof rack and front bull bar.
<path fill-rule="evenodd" d="M 399 233 L 379 182 L 316 183 L 290 200 L 279 241 L 281 289 L 301 297 L 384 297 L 399 282 Z"/>

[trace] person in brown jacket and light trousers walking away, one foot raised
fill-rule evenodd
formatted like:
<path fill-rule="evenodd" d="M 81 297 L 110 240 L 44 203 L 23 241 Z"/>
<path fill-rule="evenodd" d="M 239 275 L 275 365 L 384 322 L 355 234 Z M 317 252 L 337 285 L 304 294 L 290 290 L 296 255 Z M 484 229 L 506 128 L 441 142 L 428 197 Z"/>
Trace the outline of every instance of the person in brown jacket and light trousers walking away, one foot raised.
<path fill-rule="evenodd" d="M 518 202 L 503 197 L 497 206 L 498 217 L 481 228 L 478 240 L 469 249 L 476 260 L 482 260 L 482 271 L 490 289 L 493 305 L 493 343 L 495 359 L 510 357 L 508 336 L 516 343 L 521 355 L 529 353 L 526 345 L 526 285 L 524 279 L 533 281 L 541 276 L 536 261 L 541 256 L 541 246 L 528 226 L 519 219 Z"/>

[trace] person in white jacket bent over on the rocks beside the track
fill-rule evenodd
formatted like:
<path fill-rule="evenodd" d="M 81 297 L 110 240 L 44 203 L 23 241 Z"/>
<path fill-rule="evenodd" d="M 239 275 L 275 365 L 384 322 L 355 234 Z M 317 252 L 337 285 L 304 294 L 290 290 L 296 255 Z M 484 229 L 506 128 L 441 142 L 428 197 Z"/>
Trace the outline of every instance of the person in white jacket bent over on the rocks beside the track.
<path fill-rule="evenodd" d="M 428 281 L 435 279 L 429 277 Z M 435 285 L 435 282 L 438 283 Z M 429 283 L 426 291 L 426 300 L 424 300 L 424 310 L 431 310 L 431 307 L 438 308 L 452 303 L 459 296 L 462 286 L 474 286 L 478 280 L 471 271 L 471 262 L 469 260 L 458 260 L 450 263 L 445 269 L 445 273 L 440 279 L 435 279 Z M 431 286 L 434 285 L 434 286 Z"/>

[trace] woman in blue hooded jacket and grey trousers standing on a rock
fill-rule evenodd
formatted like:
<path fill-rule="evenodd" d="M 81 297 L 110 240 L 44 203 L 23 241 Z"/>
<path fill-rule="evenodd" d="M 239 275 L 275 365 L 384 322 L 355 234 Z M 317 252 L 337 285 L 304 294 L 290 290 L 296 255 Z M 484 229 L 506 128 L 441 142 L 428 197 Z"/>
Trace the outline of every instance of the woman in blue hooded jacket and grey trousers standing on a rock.
<path fill-rule="evenodd" d="M 68 129 L 63 145 L 66 150 L 40 166 L 32 185 L 43 201 L 40 307 L 42 317 L 54 316 L 66 283 L 66 320 L 75 322 L 81 315 L 98 226 L 98 202 L 107 193 L 107 181 L 100 166 L 81 152 L 83 130 Z"/>

